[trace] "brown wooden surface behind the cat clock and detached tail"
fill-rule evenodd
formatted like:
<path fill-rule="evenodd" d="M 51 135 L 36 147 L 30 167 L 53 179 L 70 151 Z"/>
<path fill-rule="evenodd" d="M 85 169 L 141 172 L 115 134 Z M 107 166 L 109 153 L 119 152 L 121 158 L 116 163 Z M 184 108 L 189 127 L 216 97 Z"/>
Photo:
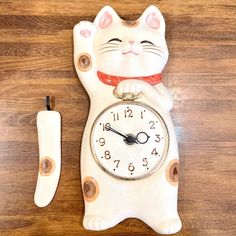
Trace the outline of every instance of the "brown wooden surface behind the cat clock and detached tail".
<path fill-rule="evenodd" d="M 236 235 L 236 2 L 106 1 L 129 20 L 152 3 L 165 16 L 170 49 L 164 78 L 180 151 L 177 235 Z M 82 227 L 79 153 L 89 102 L 73 67 L 72 28 L 104 4 L 0 1 L 0 235 L 155 235 L 136 219 L 102 232 Z M 40 209 L 35 118 L 46 95 L 56 96 L 63 118 L 62 172 L 53 202 Z"/>

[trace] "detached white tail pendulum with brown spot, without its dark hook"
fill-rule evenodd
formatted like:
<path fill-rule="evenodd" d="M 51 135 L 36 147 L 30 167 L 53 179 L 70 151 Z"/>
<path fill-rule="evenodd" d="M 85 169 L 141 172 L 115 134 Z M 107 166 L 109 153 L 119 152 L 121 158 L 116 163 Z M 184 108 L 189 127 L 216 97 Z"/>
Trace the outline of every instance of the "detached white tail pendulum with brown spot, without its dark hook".
<path fill-rule="evenodd" d="M 34 194 L 38 207 L 53 199 L 61 172 L 61 116 L 57 111 L 40 111 L 37 115 L 39 173 Z"/>

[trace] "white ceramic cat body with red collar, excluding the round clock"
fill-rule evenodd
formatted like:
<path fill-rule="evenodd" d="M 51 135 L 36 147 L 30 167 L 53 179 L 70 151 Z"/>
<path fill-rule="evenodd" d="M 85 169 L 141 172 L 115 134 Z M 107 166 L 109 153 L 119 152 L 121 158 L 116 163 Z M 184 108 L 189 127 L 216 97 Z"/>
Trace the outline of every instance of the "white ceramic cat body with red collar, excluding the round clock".
<path fill-rule="evenodd" d="M 162 234 L 181 229 L 177 212 L 178 147 L 169 115 L 173 101 L 160 78 L 167 59 L 165 21 L 155 6 L 148 7 L 138 20 L 128 22 L 106 6 L 93 23 L 82 21 L 74 27 L 75 68 L 91 102 L 81 149 L 86 229 L 108 229 L 129 217 L 141 219 Z M 92 155 L 91 128 L 101 111 L 118 102 L 114 89 L 117 94 L 142 92 L 139 101 L 157 110 L 167 124 L 167 157 L 147 178 L 114 178 Z"/>

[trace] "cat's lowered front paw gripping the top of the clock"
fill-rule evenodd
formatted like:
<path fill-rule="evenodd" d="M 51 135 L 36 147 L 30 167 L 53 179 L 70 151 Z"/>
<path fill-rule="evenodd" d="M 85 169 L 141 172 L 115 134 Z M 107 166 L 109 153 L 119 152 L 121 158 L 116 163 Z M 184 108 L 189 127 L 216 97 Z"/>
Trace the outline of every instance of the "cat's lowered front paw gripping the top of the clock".
<path fill-rule="evenodd" d="M 115 88 L 115 93 L 122 95 L 127 93 L 132 93 L 138 95 L 142 93 L 144 86 L 149 86 L 147 82 L 137 79 L 127 79 L 121 81 Z"/>

